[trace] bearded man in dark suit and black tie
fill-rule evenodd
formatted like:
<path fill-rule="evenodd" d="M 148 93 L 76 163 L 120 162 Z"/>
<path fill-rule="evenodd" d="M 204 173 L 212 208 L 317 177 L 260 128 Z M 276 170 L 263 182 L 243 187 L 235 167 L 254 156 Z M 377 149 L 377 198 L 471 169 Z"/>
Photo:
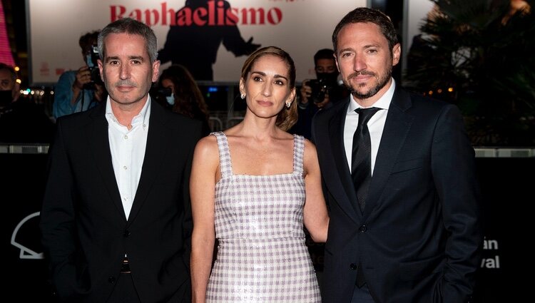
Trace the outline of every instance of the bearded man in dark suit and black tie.
<path fill-rule="evenodd" d="M 401 49 L 380 11 L 351 11 L 332 41 L 351 96 L 312 126 L 330 205 L 324 302 L 469 301 L 483 236 L 462 115 L 394 82 Z"/>

